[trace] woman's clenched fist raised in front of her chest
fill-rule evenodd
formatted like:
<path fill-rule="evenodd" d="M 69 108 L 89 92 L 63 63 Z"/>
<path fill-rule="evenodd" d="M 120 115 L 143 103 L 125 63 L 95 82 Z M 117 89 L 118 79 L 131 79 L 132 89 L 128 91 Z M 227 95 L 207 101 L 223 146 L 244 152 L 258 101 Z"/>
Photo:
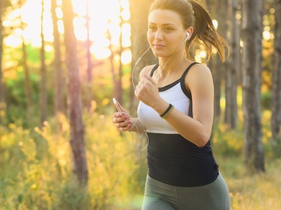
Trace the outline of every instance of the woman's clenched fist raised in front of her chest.
<path fill-rule="evenodd" d="M 160 99 L 158 86 L 151 76 L 144 75 L 138 82 L 135 96 L 150 107 L 154 107 Z"/>

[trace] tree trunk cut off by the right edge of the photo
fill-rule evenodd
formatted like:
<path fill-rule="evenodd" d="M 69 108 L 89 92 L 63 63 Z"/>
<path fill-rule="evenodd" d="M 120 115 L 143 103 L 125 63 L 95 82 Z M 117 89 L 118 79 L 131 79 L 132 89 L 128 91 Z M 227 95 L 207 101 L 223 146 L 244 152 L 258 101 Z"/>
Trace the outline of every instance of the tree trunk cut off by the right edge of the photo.
<path fill-rule="evenodd" d="M 274 67 L 272 72 L 272 146 L 281 155 L 281 0 L 275 0 Z"/>

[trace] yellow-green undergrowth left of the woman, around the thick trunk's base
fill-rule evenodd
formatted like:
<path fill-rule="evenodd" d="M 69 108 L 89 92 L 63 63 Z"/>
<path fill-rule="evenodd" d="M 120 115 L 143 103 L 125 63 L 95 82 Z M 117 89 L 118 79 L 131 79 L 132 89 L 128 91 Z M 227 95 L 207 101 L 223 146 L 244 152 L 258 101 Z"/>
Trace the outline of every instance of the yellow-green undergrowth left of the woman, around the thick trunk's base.
<path fill-rule="evenodd" d="M 0 209 L 104 209 L 126 201 L 137 185 L 138 166 L 129 136 L 121 137 L 111 117 L 85 115 L 88 187 L 75 182 L 71 169 L 69 123 L 30 131 L 10 123 L 0 127 Z"/>

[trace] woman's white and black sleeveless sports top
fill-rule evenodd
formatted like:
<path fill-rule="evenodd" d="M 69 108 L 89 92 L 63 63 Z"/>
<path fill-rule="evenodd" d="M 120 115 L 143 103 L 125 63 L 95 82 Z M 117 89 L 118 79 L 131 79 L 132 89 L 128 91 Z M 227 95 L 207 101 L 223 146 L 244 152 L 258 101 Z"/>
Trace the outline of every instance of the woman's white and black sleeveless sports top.
<path fill-rule="evenodd" d="M 194 62 L 186 68 L 177 81 L 158 88 L 160 97 L 190 117 L 193 117 L 192 95 L 185 87 L 184 77 L 195 64 L 197 63 Z M 156 64 L 153 67 L 150 76 L 158 66 Z M 207 185 L 218 177 L 218 165 L 210 141 L 204 147 L 196 146 L 141 101 L 137 113 L 140 122 L 147 128 L 147 163 L 150 177 L 179 187 Z"/>

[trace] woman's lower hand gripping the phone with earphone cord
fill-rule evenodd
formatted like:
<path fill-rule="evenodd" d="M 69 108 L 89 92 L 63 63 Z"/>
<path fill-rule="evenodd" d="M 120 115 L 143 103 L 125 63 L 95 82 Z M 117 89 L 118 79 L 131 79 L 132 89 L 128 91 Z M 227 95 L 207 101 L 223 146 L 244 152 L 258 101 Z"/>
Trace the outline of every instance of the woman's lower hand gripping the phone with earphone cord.
<path fill-rule="evenodd" d="M 118 130 L 125 132 L 132 128 L 132 122 L 130 120 L 130 115 L 128 114 L 128 112 L 121 106 L 118 101 L 117 103 L 122 113 L 115 112 L 112 116 L 112 122 Z"/>

